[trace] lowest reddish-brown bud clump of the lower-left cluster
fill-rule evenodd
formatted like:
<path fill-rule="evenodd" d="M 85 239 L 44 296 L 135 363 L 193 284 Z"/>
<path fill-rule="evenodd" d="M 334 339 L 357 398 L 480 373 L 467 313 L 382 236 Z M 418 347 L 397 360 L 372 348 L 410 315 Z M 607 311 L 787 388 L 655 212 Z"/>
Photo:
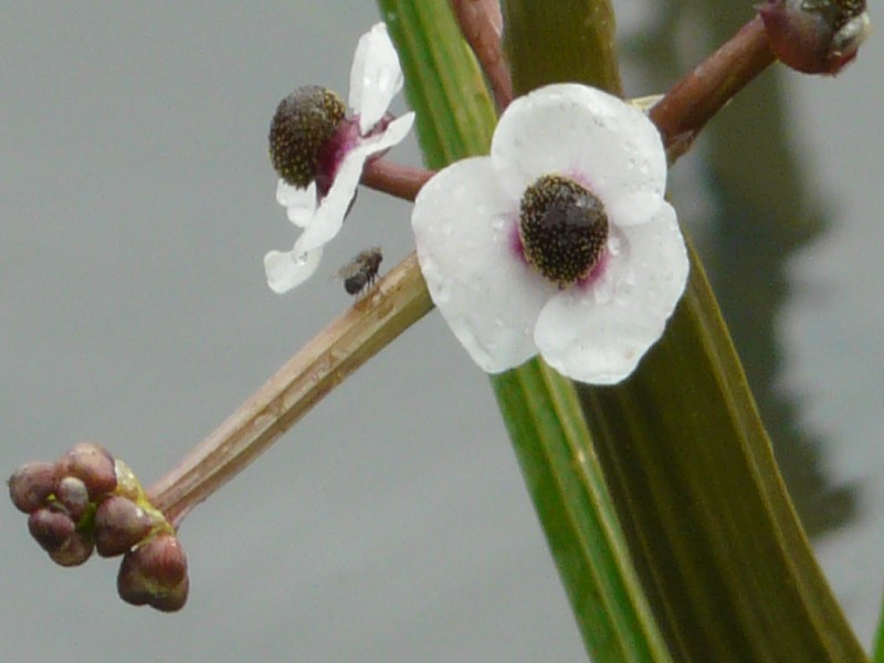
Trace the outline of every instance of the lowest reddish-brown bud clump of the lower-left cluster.
<path fill-rule="evenodd" d="M 160 534 L 126 552 L 117 576 L 124 601 L 164 612 L 183 608 L 189 587 L 187 557 L 172 534 Z"/>

